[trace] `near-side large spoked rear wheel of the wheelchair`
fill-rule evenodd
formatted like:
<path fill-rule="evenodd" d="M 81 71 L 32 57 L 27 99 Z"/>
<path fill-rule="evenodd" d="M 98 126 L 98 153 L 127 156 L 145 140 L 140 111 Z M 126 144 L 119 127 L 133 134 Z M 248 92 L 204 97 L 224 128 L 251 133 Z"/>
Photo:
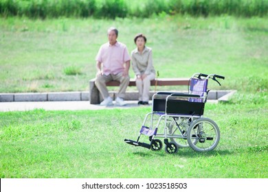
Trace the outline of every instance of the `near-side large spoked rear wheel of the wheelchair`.
<path fill-rule="evenodd" d="M 219 127 L 211 119 L 199 118 L 190 124 L 187 141 L 194 151 L 212 151 L 220 141 Z"/>

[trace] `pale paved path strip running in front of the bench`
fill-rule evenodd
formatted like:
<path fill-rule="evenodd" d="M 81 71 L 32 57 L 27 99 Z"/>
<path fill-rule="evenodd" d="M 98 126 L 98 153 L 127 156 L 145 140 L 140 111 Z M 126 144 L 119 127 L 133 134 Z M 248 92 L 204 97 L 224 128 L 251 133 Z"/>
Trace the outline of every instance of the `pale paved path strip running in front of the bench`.
<path fill-rule="evenodd" d="M 208 100 L 209 103 L 217 103 L 217 100 Z M 113 106 L 100 106 L 89 104 L 89 101 L 25 101 L 25 102 L 0 102 L 0 111 L 25 111 L 34 109 L 44 110 L 100 110 L 113 108 L 135 108 L 137 101 L 126 101 L 126 106 L 117 106 L 113 101 Z M 151 103 L 151 101 L 150 101 Z M 149 105 L 151 106 L 151 104 Z"/>

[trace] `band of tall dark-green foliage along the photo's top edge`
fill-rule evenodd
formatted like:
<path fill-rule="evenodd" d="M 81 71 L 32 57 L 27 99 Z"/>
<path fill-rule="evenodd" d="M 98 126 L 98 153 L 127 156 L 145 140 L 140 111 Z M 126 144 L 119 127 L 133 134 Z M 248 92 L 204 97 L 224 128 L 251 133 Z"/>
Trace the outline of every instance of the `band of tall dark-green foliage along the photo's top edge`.
<path fill-rule="evenodd" d="M 154 14 L 192 16 L 267 16 L 268 0 L 0 0 L 2 16 L 47 18 L 59 16 L 115 19 Z"/>

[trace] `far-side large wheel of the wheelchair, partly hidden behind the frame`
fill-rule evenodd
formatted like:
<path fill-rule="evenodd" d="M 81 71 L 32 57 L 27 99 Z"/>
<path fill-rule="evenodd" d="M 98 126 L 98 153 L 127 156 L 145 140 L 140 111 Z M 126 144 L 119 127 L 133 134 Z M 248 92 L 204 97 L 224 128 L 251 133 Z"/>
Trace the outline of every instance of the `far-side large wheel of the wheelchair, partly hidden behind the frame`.
<path fill-rule="evenodd" d="M 177 144 L 177 147 L 179 148 L 185 148 L 185 147 L 189 147 L 189 143 L 187 141 L 187 131 L 188 131 L 189 125 L 185 125 L 182 127 L 182 131 L 185 132 L 185 134 L 181 134 L 181 132 L 179 131 L 179 129 L 177 128 L 177 126 L 175 125 L 175 121 L 172 121 L 169 125 L 168 125 L 168 132 L 169 134 L 178 134 L 180 136 L 185 136 L 185 139 L 181 139 L 181 138 L 170 138 L 170 141 L 174 142 Z M 193 141 L 194 145 L 197 144 L 197 140 Z"/>

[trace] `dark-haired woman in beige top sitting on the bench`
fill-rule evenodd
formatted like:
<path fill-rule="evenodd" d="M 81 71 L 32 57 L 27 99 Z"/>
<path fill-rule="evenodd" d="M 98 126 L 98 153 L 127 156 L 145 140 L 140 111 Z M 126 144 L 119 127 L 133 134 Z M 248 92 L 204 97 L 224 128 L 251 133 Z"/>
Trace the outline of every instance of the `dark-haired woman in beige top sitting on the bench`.
<path fill-rule="evenodd" d="M 152 49 L 145 46 L 146 40 L 143 34 L 137 34 L 134 38 L 137 48 L 131 52 L 132 68 L 139 91 L 138 105 L 149 104 L 150 81 L 155 79 Z"/>

